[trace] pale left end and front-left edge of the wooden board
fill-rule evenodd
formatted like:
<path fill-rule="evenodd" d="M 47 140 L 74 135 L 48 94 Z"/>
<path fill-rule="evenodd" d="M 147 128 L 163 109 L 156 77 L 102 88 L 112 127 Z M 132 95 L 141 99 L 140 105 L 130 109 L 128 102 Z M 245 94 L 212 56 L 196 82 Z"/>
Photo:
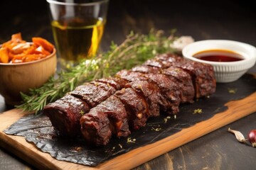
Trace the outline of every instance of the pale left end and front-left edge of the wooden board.
<path fill-rule="evenodd" d="M 15 123 L 21 117 L 31 113 L 23 112 L 20 109 L 14 108 L 10 111 L 0 113 L 0 118 L 6 122 L 0 124 L 0 145 L 9 150 L 9 152 L 23 159 L 25 162 L 38 167 L 39 169 L 84 169 L 84 165 L 75 164 L 72 162 L 59 161 L 50 156 L 50 154 L 42 152 L 32 142 L 27 142 L 24 137 L 16 135 L 6 135 L 4 130 Z M 47 162 L 47 163 L 46 163 Z M 87 169 L 93 169 L 86 166 Z"/>

